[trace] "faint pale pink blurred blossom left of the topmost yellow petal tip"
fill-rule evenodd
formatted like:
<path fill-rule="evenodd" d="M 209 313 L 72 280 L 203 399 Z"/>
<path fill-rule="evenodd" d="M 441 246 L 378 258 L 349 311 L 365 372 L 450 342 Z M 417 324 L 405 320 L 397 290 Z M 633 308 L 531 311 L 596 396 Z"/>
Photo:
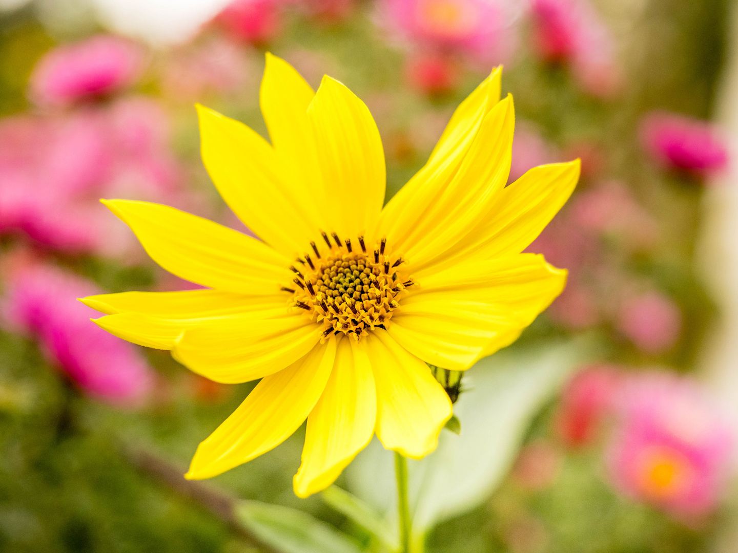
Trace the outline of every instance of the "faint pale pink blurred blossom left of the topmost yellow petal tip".
<path fill-rule="evenodd" d="M 236 91 L 246 76 L 243 46 L 226 38 L 213 38 L 170 55 L 162 87 L 168 97 L 189 102 L 210 91 Z"/>

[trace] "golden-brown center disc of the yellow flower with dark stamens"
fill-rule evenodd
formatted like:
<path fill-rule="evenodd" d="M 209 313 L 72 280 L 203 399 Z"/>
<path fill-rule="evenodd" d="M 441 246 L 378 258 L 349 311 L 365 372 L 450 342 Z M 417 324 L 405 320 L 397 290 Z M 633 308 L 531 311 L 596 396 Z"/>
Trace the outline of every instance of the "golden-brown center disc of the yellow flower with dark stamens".
<path fill-rule="evenodd" d="M 314 255 L 298 259 L 300 268 L 290 267 L 297 274 L 293 281 L 297 288 L 282 289 L 292 292 L 292 305 L 323 323 L 323 339 L 340 332 L 358 340 L 392 317 L 413 280 L 403 271 L 402 257 L 390 255 L 387 240 L 367 251 L 362 236 L 359 248 L 351 240 L 342 243 L 335 232 L 331 236 L 334 243 L 323 233 L 327 247 L 310 243 Z"/>

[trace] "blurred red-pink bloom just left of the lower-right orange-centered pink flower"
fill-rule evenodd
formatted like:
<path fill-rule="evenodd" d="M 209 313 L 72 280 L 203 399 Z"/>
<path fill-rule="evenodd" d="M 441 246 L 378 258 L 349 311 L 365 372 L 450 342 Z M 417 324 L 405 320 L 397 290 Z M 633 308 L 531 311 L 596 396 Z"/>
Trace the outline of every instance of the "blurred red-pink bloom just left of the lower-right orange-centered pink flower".
<path fill-rule="evenodd" d="M 556 428 L 570 447 L 590 443 L 615 406 L 621 382 L 620 369 L 588 366 L 567 384 L 559 404 Z"/>

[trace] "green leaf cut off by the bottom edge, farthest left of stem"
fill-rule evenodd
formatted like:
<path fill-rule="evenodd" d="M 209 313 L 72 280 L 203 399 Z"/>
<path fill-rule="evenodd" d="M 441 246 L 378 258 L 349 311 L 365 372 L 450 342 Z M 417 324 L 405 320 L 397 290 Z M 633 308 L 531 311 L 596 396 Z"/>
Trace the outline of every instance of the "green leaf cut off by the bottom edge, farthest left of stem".
<path fill-rule="evenodd" d="M 297 509 L 241 501 L 236 516 L 252 535 L 280 553 L 361 552 L 353 539 Z"/>

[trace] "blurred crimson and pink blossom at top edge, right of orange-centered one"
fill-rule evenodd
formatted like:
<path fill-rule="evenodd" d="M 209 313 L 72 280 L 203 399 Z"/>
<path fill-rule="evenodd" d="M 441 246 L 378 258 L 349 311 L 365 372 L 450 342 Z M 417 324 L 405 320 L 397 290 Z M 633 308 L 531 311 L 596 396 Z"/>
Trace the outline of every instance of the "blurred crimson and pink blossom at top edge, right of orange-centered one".
<path fill-rule="evenodd" d="M 539 56 L 568 62 L 584 88 L 607 97 L 621 84 L 610 30 L 587 0 L 533 0 L 534 46 Z"/>

